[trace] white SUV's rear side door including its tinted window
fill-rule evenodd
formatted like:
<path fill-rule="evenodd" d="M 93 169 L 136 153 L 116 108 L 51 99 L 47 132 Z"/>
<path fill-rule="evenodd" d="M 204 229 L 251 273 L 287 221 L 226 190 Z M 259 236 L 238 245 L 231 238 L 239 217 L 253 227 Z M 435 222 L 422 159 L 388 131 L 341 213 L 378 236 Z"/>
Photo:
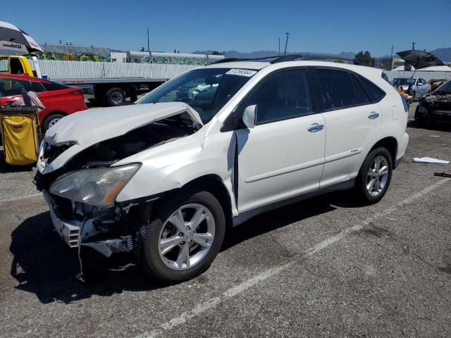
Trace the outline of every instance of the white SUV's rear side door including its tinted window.
<path fill-rule="evenodd" d="M 347 70 L 316 68 L 316 74 L 327 131 L 320 186 L 327 187 L 356 177 L 369 149 L 380 139 L 382 118 L 377 101 L 385 93 Z"/>

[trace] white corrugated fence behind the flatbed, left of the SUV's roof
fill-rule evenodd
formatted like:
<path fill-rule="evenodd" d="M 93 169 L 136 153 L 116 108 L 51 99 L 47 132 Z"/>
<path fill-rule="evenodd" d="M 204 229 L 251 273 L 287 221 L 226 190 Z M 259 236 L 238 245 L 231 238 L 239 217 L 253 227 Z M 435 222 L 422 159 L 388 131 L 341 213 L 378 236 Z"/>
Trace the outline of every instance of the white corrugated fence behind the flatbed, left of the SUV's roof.
<path fill-rule="evenodd" d="M 92 61 L 37 61 L 43 75 L 49 79 L 87 79 L 104 77 L 145 77 L 172 79 L 198 65 L 171 65 L 159 63 L 111 63 Z"/>

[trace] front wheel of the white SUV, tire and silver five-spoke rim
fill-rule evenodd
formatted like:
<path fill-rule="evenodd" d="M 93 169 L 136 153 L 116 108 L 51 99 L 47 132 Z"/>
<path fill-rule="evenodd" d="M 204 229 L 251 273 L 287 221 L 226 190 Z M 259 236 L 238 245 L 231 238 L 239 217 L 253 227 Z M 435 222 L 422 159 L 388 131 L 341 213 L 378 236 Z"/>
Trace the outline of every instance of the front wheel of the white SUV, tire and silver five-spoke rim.
<path fill-rule="evenodd" d="M 179 223 L 179 227 L 186 227 L 186 231 L 181 232 L 175 226 L 177 217 L 174 217 L 180 215 L 180 209 L 185 222 L 192 222 L 197 212 L 202 215 L 202 222 L 192 229 L 185 222 Z M 221 249 L 225 232 L 223 208 L 209 192 L 187 192 L 160 201 L 142 237 L 140 268 L 159 282 L 190 280 L 209 268 Z M 209 234 L 213 234 L 213 238 L 206 239 Z M 161 245 L 164 239 L 170 239 L 170 245 Z M 208 247 L 197 244 L 198 241 Z M 186 260 L 184 250 L 190 250 Z"/>

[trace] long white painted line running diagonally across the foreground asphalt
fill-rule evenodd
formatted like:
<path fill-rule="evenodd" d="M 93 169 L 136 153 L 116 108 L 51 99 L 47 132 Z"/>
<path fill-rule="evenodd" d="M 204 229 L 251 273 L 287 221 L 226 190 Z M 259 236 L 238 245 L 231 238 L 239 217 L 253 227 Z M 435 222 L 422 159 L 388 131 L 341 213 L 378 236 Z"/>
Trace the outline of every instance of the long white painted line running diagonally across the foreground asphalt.
<path fill-rule="evenodd" d="M 396 211 L 397 208 L 400 208 L 406 204 L 412 203 L 416 199 L 419 199 L 421 196 L 428 194 L 428 192 L 433 191 L 434 189 L 440 187 L 440 185 L 445 184 L 446 182 L 449 182 L 450 180 L 451 180 L 451 178 L 445 178 L 443 180 L 435 182 L 431 186 L 421 190 L 421 192 L 417 192 L 416 194 L 413 194 L 412 196 L 407 197 L 407 199 L 400 201 L 400 203 L 395 204 L 394 206 L 391 206 L 390 208 L 386 209 L 385 211 L 378 212 L 378 213 L 376 213 L 376 215 L 366 218 L 366 220 L 363 220 L 362 223 L 359 223 L 358 225 L 354 225 L 352 227 L 348 227 L 347 229 L 342 230 L 342 232 L 335 234 L 335 236 L 323 240 L 323 242 L 316 244 L 315 246 L 311 247 L 309 250 L 296 256 L 294 259 L 292 259 L 292 261 L 285 263 L 283 265 L 279 265 L 276 268 L 271 268 L 271 269 L 265 270 L 262 273 L 259 273 L 259 275 L 256 275 L 256 276 L 250 278 L 249 280 L 245 280 L 245 282 L 237 284 L 235 287 L 231 287 L 226 292 L 223 292 L 223 294 L 221 294 L 221 296 L 214 297 L 213 299 L 210 299 L 209 301 L 201 303 L 190 311 L 185 311 L 183 313 L 180 313 L 180 315 L 178 315 L 175 318 L 172 318 L 171 320 L 168 320 L 166 323 L 161 324 L 160 327 L 156 328 L 155 330 L 152 330 L 149 332 L 144 332 L 142 334 L 137 335 L 135 338 L 158 337 L 160 334 L 163 334 L 165 331 L 171 330 L 174 327 L 177 327 L 179 325 L 186 323 L 187 320 L 190 320 L 194 316 L 204 313 L 205 311 L 208 311 L 211 308 L 214 308 L 219 303 L 223 303 L 223 301 L 227 301 L 228 299 L 232 298 L 233 296 L 237 296 L 238 294 L 245 292 L 245 290 L 249 289 L 250 287 L 253 287 L 256 284 L 259 284 L 260 282 L 264 282 L 268 278 L 271 278 L 274 275 L 277 275 L 278 273 L 280 273 L 280 271 L 285 270 L 286 268 L 290 268 L 290 266 L 294 265 L 295 263 L 299 263 L 299 261 L 302 261 L 305 258 L 308 258 L 309 256 L 313 255 L 314 253 L 319 252 L 323 249 L 326 249 L 328 246 L 340 241 L 341 239 L 347 237 L 349 234 L 352 234 L 353 232 L 362 230 L 366 225 L 369 225 L 369 223 L 371 221 L 376 220 L 377 218 L 386 217 L 387 215 L 390 215 L 390 213 L 393 213 L 394 211 Z"/>

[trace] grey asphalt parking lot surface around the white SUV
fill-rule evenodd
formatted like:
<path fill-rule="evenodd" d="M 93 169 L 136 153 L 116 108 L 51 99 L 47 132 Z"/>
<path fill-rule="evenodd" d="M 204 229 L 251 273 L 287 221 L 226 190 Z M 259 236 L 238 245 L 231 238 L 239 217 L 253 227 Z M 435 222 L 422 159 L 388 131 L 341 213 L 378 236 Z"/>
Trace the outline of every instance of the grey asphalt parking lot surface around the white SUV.
<path fill-rule="evenodd" d="M 34 170 L 0 158 L 0 337 L 450 337 L 451 179 L 433 172 L 451 163 L 413 158 L 450 160 L 451 125 L 408 132 L 380 203 L 340 193 L 266 213 L 168 287 L 133 268 L 75 280 Z"/>

